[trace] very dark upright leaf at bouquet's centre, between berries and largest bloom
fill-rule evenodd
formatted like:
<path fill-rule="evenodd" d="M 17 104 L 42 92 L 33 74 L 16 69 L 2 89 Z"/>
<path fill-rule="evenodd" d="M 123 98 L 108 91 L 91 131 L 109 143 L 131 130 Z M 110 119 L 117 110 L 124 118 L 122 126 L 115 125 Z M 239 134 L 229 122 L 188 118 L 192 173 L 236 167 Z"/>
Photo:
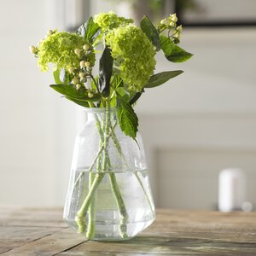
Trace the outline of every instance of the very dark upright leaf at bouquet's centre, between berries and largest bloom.
<path fill-rule="evenodd" d="M 112 76 L 113 57 L 111 55 L 111 49 L 105 46 L 102 57 L 100 59 L 99 75 L 100 75 L 100 90 L 102 96 L 108 97 L 110 93 L 110 79 Z"/>

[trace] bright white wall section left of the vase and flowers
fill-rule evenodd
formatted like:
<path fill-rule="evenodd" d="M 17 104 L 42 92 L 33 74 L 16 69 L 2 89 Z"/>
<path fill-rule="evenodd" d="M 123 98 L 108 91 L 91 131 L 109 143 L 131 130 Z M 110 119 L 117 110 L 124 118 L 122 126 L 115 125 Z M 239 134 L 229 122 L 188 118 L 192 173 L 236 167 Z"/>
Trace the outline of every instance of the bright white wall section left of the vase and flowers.
<path fill-rule="evenodd" d="M 53 3 L 0 2 L 0 204 L 61 205 L 67 189 L 75 107 L 50 91 L 51 74 L 28 50 L 63 26 Z"/>

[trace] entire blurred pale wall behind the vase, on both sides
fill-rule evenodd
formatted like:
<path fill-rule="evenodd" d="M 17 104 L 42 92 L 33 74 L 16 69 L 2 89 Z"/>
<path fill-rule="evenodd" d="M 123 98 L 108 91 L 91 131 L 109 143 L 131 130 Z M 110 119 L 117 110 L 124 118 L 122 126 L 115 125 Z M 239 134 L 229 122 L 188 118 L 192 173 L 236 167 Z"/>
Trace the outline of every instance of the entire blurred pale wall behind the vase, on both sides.
<path fill-rule="evenodd" d="M 255 12 L 243 17 L 236 12 L 240 9 L 241 14 L 242 7 L 246 13 L 253 3 L 255 9 L 255 1 L 247 0 L 246 5 L 236 0 L 225 10 L 230 4 L 226 0 L 223 15 L 218 1 L 207 2 L 209 10 L 201 1 L 187 1 L 194 13 L 177 9 L 188 24 L 181 46 L 195 56 L 175 65 L 157 56 L 156 71 L 183 69 L 184 73 L 147 90 L 136 106 L 158 207 L 216 209 L 218 173 L 226 167 L 246 172 L 247 201 L 256 205 L 256 26 L 250 24 L 256 17 Z M 139 3 L 157 20 L 172 13 L 178 1 Z M 113 9 L 137 19 L 142 12 L 135 12 L 134 4 L 128 0 L 0 2 L 0 205 L 62 206 L 74 138 L 84 124 L 83 110 L 49 89 L 51 73 L 39 71 L 28 46 L 49 28 L 70 29 L 100 11 Z M 225 20 L 225 14 L 231 21 Z M 193 15 L 199 18 L 193 21 Z M 221 26 L 234 20 L 236 26 Z M 195 26 L 190 26 L 193 22 Z M 216 22 L 219 26 L 212 26 Z"/>

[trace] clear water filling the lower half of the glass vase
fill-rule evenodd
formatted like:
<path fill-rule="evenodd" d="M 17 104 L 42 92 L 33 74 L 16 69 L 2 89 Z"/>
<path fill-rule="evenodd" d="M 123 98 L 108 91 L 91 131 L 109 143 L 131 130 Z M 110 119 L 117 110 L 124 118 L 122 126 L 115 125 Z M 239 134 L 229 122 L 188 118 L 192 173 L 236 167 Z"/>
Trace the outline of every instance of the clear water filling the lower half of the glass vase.
<path fill-rule="evenodd" d="M 78 231 L 77 212 L 90 193 L 90 178 L 95 178 L 96 172 L 79 169 L 73 173 L 74 177 L 67 195 L 64 219 L 67 224 Z M 93 237 L 90 239 L 128 239 L 136 236 L 154 221 L 154 203 L 147 170 L 100 172 L 100 175 L 102 175 L 102 180 L 91 201 L 95 213 L 92 217 L 89 217 L 88 211 L 84 214 L 86 226 L 92 225 L 94 229 Z M 115 189 L 113 189 L 113 181 Z M 119 195 L 121 195 L 125 206 L 127 213 L 125 220 L 120 213 L 117 193 L 114 192 L 116 189 L 119 190 Z M 88 236 L 88 230 L 84 230 L 82 233 L 84 236 Z"/>

